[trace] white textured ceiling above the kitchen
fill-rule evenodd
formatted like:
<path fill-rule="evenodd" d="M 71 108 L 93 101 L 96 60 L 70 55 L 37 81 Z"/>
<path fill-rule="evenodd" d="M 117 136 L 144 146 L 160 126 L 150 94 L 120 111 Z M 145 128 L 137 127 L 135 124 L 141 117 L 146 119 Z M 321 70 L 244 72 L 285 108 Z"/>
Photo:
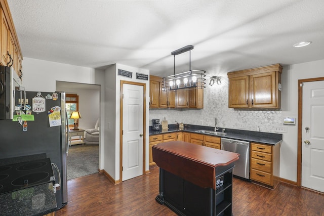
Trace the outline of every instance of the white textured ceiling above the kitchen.
<path fill-rule="evenodd" d="M 23 57 L 161 76 L 186 45 L 191 69 L 210 75 L 324 59 L 322 0 L 7 1 Z M 312 44 L 293 47 L 303 40 Z M 176 73 L 188 62 L 189 52 L 176 56 Z"/>

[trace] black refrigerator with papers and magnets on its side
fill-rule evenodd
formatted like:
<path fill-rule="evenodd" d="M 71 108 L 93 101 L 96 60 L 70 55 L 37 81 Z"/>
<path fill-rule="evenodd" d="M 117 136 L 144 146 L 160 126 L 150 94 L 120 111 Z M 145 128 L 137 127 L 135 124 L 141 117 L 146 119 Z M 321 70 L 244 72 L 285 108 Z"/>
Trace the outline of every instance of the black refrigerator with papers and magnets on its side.
<path fill-rule="evenodd" d="M 35 99 L 42 99 L 33 101 Z M 65 93 L 53 92 L 26 92 L 28 104 L 22 111 L 33 115 L 34 120 L 13 121 L 0 120 L 0 159 L 14 158 L 28 155 L 44 154 L 52 163 L 58 166 L 60 175 L 54 171 L 56 183 L 60 188 L 56 190 L 58 209 L 67 204 L 66 154 L 68 148 L 67 118 L 65 111 Z M 45 105 L 37 106 L 37 103 Z M 16 98 L 16 104 L 19 101 Z M 49 120 L 49 114 L 60 108 L 60 121 Z M 34 112 L 34 111 L 35 112 Z M 56 112 L 57 113 L 57 112 Z M 20 113 L 22 114 L 22 113 Z M 55 125 L 56 124 L 56 125 Z M 60 178 L 60 181 L 58 181 Z"/>

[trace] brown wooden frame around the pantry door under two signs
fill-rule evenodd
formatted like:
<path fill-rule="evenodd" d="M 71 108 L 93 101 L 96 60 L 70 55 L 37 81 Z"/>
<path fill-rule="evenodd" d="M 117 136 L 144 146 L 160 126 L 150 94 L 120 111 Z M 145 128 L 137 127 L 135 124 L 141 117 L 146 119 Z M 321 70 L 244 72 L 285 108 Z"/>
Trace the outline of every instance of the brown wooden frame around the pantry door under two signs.
<path fill-rule="evenodd" d="M 146 158 L 146 83 L 120 80 L 120 108 L 119 108 L 119 179 L 123 182 L 123 94 L 124 84 L 140 85 L 143 87 L 143 174 L 145 174 Z"/>

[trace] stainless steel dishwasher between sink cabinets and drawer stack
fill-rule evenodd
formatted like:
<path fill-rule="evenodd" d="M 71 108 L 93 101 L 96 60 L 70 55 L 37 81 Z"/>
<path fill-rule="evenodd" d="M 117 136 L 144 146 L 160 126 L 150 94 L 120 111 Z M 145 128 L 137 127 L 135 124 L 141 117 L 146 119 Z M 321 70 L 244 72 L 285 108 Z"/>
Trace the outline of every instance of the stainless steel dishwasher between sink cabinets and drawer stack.
<path fill-rule="evenodd" d="M 221 149 L 238 153 L 233 175 L 250 181 L 250 143 L 240 140 L 221 138 Z"/>

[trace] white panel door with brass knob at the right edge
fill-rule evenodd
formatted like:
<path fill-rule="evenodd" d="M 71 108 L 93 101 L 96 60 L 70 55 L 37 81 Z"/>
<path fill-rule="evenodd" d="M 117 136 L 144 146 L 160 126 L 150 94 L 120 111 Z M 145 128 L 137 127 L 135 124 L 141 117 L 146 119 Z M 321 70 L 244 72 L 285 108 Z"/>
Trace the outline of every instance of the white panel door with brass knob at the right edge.
<path fill-rule="evenodd" d="M 324 192 L 324 81 L 303 83 L 302 186 Z"/>

